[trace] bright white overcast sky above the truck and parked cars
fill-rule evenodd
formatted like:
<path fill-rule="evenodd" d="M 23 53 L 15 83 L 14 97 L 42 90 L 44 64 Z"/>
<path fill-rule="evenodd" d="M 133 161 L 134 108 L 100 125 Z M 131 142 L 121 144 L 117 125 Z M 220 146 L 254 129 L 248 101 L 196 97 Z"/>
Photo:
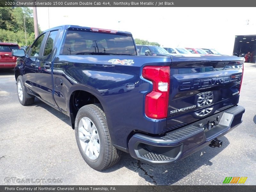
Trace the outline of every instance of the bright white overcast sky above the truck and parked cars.
<path fill-rule="evenodd" d="M 232 54 L 236 35 L 256 35 L 255 8 L 37 7 L 42 30 L 79 25 L 129 31 L 164 47 L 215 48 Z"/>

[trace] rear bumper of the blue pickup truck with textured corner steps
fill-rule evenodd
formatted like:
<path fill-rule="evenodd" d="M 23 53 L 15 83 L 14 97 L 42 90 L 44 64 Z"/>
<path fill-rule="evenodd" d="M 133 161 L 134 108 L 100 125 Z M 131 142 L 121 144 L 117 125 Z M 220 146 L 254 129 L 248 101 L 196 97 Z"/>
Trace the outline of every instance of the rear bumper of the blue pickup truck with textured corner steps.
<path fill-rule="evenodd" d="M 129 153 L 136 159 L 153 164 L 174 163 L 209 145 L 213 139 L 220 138 L 233 130 L 242 123 L 244 111 L 243 107 L 235 106 L 162 137 L 136 133 L 129 140 Z M 204 132 L 203 126 L 213 121 L 216 126 Z"/>

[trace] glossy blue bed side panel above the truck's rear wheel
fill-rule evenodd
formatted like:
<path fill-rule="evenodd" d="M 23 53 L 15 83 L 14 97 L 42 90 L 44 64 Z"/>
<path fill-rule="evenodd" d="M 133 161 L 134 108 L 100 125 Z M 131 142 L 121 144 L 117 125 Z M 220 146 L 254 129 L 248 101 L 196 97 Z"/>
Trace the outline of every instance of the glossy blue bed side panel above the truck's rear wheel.
<path fill-rule="evenodd" d="M 134 65 L 108 63 L 115 58 L 132 59 Z M 93 94 L 103 106 L 111 140 L 127 148 L 127 138 L 134 130 L 158 134 L 166 129 L 166 119 L 155 120 L 145 116 L 144 98 L 152 90 L 152 84 L 142 79 L 141 69 L 144 65 L 170 64 L 170 57 L 58 55 L 53 60 L 53 76 L 54 79 L 60 78 L 63 86 L 57 88 L 54 81 L 54 98 L 60 108 L 70 111 L 66 100 L 74 91 Z"/>

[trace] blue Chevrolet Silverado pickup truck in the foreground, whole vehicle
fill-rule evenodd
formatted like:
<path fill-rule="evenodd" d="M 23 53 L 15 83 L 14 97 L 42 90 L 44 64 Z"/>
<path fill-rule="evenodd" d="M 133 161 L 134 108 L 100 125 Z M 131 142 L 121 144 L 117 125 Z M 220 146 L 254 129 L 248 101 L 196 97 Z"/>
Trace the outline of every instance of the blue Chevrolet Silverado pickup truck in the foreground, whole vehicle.
<path fill-rule="evenodd" d="M 139 56 L 132 34 L 65 25 L 38 36 L 15 67 L 18 98 L 35 97 L 70 117 L 85 162 L 95 170 L 121 152 L 174 163 L 241 124 L 244 58 Z M 54 124 L 54 122 L 52 122 Z"/>

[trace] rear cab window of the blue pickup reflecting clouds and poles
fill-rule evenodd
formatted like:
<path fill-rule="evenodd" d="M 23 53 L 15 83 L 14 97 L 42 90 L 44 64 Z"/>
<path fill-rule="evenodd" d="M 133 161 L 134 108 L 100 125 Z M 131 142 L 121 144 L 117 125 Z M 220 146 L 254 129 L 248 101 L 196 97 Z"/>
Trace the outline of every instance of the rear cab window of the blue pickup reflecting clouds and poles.
<path fill-rule="evenodd" d="M 136 55 L 131 36 L 68 30 L 63 55 Z"/>

